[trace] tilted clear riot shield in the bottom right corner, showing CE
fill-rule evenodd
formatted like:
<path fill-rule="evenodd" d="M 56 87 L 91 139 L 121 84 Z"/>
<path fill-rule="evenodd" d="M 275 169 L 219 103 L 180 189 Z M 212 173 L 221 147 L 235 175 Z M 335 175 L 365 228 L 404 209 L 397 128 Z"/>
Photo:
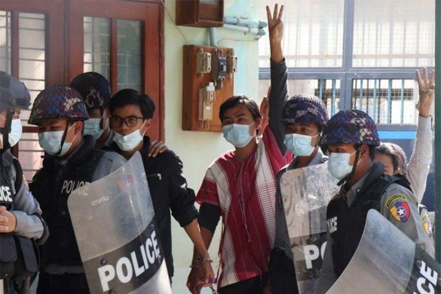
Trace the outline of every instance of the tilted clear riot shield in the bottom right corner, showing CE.
<path fill-rule="evenodd" d="M 368 212 L 354 256 L 327 294 L 440 294 L 441 265 L 378 211 Z"/>

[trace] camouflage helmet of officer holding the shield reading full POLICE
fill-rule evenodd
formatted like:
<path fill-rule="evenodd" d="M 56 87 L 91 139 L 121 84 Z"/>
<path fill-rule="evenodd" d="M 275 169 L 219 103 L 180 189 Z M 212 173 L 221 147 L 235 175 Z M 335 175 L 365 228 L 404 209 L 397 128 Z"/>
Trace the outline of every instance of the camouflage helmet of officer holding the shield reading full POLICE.
<path fill-rule="evenodd" d="M 41 91 L 35 98 L 28 123 L 38 124 L 51 119 L 75 121 L 89 119 L 81 95 L 73 88 L 64 85 L 53 85 Z"/>

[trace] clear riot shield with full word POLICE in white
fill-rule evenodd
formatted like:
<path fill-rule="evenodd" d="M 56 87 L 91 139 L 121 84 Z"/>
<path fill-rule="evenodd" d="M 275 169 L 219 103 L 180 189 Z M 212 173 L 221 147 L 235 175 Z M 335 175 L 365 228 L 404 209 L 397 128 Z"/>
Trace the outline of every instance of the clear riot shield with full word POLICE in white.
<path fill-rule="evenodd" d="M 172 293 L 139 152 L 68 207 L 91 293 Z"/>

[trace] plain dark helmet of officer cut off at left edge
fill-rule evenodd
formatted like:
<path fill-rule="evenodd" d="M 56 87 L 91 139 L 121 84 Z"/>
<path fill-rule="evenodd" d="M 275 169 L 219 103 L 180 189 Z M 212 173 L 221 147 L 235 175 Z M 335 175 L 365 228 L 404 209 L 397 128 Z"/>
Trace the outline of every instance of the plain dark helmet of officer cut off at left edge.
<path fill-rule="evenodd" d="M 12 75 L 0 72 L 0 110 L 28 109 L 30 95 L 24 83 Z"/>

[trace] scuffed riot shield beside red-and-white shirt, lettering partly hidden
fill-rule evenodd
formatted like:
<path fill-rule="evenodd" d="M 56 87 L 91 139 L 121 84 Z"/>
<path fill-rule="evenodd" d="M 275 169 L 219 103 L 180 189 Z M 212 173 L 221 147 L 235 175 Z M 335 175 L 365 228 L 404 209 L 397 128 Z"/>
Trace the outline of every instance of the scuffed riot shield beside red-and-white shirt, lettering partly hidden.
<path fill-rule="evenodd" d="M 313 294 L 326 246 L 326 206 L 339 191 L 327 163 L 285 172 L 280 192 L 288 227 L 297 286 Z"/>

